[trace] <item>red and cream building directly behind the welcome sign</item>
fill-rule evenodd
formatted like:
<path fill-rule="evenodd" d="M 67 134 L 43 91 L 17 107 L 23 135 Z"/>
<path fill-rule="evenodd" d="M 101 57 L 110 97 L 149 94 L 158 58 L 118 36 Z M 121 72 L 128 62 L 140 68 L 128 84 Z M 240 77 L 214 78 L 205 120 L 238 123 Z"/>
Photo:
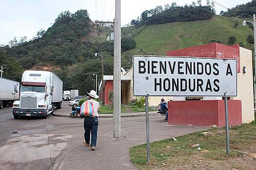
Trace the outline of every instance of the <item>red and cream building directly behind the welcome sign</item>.
<path fill-rule="evenodd" d="M 211 43 L 168 51 L 166 54 L 168 56 L 235 58 L 237 60 L 237 97 L 229 98 L 228 101 L 229 124 L 235 126 L 255 119 L 251 51 L 239 45 L 226 46 Z M 246 68 L 247 72 L 241 72 L 242 68 Z M 202 97 L 199 101 L 188 101 L 186 97 L 174 97 L 174 101 L 168 102 L 168 124 L 225 126 L 224 100 L 221 97 Z"/>

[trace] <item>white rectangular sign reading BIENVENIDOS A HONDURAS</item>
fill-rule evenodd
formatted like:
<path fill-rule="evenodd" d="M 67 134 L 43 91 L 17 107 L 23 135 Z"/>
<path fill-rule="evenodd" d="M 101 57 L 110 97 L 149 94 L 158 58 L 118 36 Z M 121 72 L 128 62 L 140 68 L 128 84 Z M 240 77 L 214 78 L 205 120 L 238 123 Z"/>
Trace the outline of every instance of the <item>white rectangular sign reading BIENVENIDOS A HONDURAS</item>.
<path fill-rule="evenodd" d="M 236 59 L 133 56 L 134 96 L 236 96 Z"/>

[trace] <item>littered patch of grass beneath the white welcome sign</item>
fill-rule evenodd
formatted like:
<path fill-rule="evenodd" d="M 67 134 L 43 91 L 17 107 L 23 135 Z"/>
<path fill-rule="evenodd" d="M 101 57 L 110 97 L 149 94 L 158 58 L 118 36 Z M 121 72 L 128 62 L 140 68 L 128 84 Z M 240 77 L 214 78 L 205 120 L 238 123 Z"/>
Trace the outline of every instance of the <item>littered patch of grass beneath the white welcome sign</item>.
<path fill-rule="evenodd" d="M 203 135 L 202 132 L 209 132 Z M 231 153 L 226 154 L 226 133 L 224 128 L 179 136 L 150 144 L 151 160 L 147 162 L 146 144 L 132 147 L 132 162 L 140 170 L 160 169 L 250 169 L 255 167 L 256 122 L 230 128 Z M 201 150 L 191 148 L 200 144 Z M 246 168 L 247 167 L 247 168 Z"/>

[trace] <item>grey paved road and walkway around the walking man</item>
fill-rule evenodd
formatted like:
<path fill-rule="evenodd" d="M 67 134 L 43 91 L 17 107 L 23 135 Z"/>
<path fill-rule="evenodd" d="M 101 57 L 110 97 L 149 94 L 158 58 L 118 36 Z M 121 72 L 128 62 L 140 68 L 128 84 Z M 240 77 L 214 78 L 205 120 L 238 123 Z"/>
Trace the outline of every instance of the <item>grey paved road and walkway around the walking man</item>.
<path fill-rule="evenodd" d="M 65 104 L 56 113 L 70 112 Z M 91 151 L 82 145 L 83 119 L 13 119 L 10 107 L 0 116 L 0 170 L 133 170 L 129 148 L 146 142 L 145 117 L 122 118 L 119 139 L 112 138 L 113 119 L 99 119 L 97 148 Z M 150 116 L 151 141 L 207 129 L 172 126 L 163 119 Z"/>

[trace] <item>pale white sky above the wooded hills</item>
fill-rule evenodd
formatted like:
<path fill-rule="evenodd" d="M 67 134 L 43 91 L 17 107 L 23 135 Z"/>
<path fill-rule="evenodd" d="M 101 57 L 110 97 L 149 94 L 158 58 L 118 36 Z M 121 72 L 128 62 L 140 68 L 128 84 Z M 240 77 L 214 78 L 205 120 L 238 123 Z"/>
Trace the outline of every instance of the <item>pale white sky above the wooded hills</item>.
<path fill-rule="evenodd" d="M 197 3 L 197 0 L 121 0 L 121 24 L 130 23 L 143 11 L 159 5 L 176 2 L 183 6 L 186 3 L 190 5 L 193 1 Z M 206 4 L 206 0 L 201 1 L 202 5 Z M 214 1 L 226 8 L 232 8 L 251 0 Z M 19 39 L 25 35 L 32 39 L 39 29 L 47 30 L 59 13 L 67 10 L 75 13 L 79 9 L 86 9 L 93 21 L 112 21 L 115 17 L 114 2 L 115 0 L 0 0 L 0 44 L 8 44 L 15 36 Z M 218 4 L 215 4 L 215 9 L 217 14 L 226 11 Z"/>

